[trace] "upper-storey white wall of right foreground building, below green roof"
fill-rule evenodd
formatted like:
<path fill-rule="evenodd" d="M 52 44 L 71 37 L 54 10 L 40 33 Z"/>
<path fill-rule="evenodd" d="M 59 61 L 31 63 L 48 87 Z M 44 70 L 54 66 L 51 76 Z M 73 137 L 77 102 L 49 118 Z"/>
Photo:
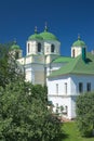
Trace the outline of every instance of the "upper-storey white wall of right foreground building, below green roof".
<path fill-rule="evenodd" d="M 65 82 L 67 82 L 67 93 L 65 93 Z M 68 75 L 57 78 L 49 78 L 49 94 L 55 95 L 77 95 L 79 94 L 79 82 L 83 84 L 83 91 L 86 91 L 86 84 L 91 82 L 91 90 L 94 91 L 94 76 L 89 75 Z M 56 84 L 58 84 L 58 93 L 56 93 Z"/>

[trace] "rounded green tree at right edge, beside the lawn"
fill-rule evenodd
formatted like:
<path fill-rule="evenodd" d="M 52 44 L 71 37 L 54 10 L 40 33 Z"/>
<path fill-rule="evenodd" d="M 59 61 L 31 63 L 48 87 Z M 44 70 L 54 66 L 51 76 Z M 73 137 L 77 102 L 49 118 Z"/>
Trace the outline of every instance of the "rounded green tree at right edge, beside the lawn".
<path fill-rule="evenodd" d="M 86 92 L 77 100 L 77 124 L 82 136 L 93 136 L 94 92 Z"/>

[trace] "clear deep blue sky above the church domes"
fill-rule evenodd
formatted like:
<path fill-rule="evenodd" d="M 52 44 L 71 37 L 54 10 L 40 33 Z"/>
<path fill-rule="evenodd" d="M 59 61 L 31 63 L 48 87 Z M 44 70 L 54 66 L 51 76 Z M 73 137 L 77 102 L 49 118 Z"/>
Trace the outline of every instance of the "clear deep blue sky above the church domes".
<path fill-rule="evenodd" d="M 45 22 L 62 42 L 62 55 L 70 55 L 78 34 L 94 49 L 94 0 L 0 0 L 0 43 L 16 39 L 25 54 L 35 26 L 41 33 Z"/>

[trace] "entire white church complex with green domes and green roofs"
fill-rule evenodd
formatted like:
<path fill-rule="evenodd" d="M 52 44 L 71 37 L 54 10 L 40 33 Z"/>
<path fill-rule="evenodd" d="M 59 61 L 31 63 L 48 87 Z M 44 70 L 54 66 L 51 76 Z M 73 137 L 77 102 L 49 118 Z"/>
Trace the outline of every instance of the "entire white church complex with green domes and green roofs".
<path fill-rule="evenodd" d="M 26 80 L 48 86 L 53 112 L 75 118 L 77 97 L 94 91 L 94 54 L 86 51 L 85 42 L 78 37 L 71 46 L 71 56 L 62 56 L 59 40 L 45 26 L 44 31 L 38 33 L 36 28 L 28 37 L 26 56 L 23 57 L 19 46 L 12 49 L 24 67 Z"/>

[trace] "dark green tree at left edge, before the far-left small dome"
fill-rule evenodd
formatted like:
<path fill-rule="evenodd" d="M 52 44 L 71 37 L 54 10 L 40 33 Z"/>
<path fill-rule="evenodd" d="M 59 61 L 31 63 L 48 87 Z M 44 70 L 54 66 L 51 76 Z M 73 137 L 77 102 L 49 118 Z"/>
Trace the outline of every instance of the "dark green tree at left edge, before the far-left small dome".
<path fill-rule="evenodd" d="M 13 43 L 0 44 L 0 86 L 2 87 L 10 81 L 24 79 L 24 69 L 10 50 Z"/>

